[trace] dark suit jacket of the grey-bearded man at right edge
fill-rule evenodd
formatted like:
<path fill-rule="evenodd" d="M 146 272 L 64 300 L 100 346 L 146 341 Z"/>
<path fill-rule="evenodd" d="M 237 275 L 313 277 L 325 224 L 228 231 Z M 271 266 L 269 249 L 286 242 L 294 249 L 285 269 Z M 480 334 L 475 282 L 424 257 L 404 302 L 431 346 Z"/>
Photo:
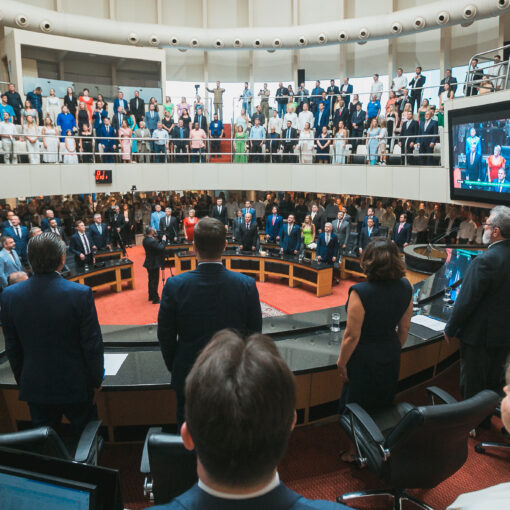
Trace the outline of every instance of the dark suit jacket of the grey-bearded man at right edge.
<path fill-rule="evenodd" d="M 468 345 L 510 345 L 510 240 L 471 261 L 445 332 Z M 503 362 L 503 360 L 501 360 Z"/>

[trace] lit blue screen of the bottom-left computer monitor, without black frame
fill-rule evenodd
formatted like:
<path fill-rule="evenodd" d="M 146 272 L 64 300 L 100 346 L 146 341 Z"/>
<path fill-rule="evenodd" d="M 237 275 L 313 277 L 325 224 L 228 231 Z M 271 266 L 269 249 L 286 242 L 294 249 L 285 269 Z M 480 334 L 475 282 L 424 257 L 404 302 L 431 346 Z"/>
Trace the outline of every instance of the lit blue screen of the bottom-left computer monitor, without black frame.
<path fill-rule="evenodd" d="M 0 466 L 3 510 L 95 510 L 96 486 Z"/>

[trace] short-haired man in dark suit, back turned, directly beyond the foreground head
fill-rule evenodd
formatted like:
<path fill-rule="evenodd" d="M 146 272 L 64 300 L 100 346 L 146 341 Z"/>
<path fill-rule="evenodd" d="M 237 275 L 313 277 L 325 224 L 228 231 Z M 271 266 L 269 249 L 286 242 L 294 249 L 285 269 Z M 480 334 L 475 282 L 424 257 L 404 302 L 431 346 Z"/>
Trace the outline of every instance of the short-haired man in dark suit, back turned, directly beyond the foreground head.
<path fill-rule="evenodd" d="M 223 328 L 258 332 L 262 313 L 255 280 L 225 269 L 223 223 L 203 218 L 195 226 L 197 269 L 169 278 L 158 314 L 158 340 L 177 394 L 177 423 L 184 421 L 184 382 L 198 354 Z"/>

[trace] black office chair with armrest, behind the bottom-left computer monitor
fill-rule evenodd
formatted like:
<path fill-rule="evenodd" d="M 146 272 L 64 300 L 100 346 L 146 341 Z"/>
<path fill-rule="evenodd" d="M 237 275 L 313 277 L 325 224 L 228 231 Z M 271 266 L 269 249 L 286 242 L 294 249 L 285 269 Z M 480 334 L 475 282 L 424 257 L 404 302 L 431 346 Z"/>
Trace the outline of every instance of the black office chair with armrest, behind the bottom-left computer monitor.
<path fill-rule="evenodd" d="M 100 420 L 88 423 L 74 452 L 66 447 L 51 427 L 0 434 L 0 446 L 97 466 L 97 459 L 103 447 L 103 438 L 99 435 L 100 427 Z"/>

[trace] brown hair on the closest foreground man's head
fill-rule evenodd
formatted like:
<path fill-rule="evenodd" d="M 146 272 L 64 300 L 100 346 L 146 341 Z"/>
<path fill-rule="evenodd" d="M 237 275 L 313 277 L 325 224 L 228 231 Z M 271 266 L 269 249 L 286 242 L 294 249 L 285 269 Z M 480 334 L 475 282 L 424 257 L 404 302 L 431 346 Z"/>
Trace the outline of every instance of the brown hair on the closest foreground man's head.
<path fill-rule="evenodd" d="M 186 379 L 186 424 L 197 457 L 211 479 L 228 486 L 271 475 L 295 407 L 294 376 L 265 335 L 219 331 Z"/>

